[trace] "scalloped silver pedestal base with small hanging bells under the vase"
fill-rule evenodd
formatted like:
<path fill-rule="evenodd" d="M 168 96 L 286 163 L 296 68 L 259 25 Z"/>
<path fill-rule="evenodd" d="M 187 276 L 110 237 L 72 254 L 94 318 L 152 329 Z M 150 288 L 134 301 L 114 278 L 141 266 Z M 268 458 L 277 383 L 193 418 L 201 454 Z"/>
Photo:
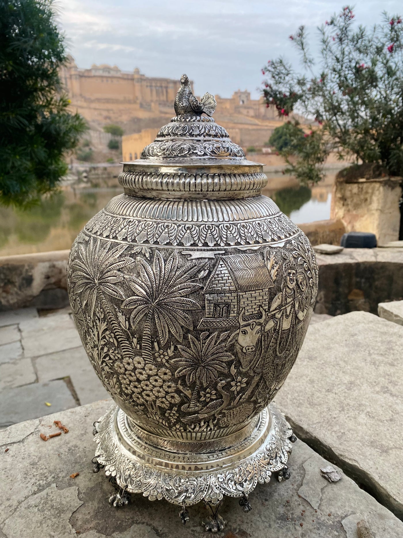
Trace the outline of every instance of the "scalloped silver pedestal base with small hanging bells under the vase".
<path fill-rule="evenodd" d="M 239 497 L 240 506 L 248 512 L 248 494 L 257 483 L 270 482 L 274 474 L 280 481 L 289 478 L 286 464 L 295 440 L 274 404 L 262 411 L 247 438 L 214 451 L 174 451 L 167 439 L 156 445 L 155 436 L 134 426 L 117 406 L 95 423 L 94 434 L 94 472 L 105 468 L 110 477 L 116 490 L 111 504 L 123 506 L 131 493 L 142 493 L 150 500 L 165 499 L 181 506 L 179 516 L 186 523 L 186 507 L 203 501 L 210 512 L 203 525 L 213 532 L 225 525 L 218 514 L 224 495 Z"/>

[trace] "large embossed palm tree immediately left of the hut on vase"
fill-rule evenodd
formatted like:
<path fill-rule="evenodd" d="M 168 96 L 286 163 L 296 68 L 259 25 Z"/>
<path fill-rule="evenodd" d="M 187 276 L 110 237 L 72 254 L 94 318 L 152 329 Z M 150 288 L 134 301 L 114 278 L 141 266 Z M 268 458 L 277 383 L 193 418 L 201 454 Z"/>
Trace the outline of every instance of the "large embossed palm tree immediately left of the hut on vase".
<path fill-rule="evenodd" d="M 193 330 L 191 317 L 184 310 L 199 310 L 200 305 L 186 295 L 195 292 L 201 286 L 191 279 L 205 265 L 205 261 L 192 261 L 178 267 L 179 258 L 175 251 L 166 263 L 161 254 L 155 252 L 152 265 L 140 257 L 137 258 L 137 264 L 140 278 L 127 279 L 134 295 L 125 299 L 121 308 L 133 308 L 130 322 L 134 329 L 137 329 L 137 324 L 145 318 L 142 356 L 147 362 L 153 362 L 151 338 L 153 318 L 162 346 L 167 343 L 169 333 L 182 342 L 182 327 Z"/>

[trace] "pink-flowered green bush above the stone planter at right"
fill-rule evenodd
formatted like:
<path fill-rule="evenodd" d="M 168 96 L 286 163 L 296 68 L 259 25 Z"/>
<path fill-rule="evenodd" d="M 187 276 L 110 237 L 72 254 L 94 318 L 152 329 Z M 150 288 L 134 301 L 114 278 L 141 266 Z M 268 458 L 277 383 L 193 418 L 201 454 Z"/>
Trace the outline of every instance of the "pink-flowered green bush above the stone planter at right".
<path fill-rule="evenodd" d="M 305 74 L 282 58 L 262 69 L 268 75 L 262 90 L 267 105 L 275 105 L 280 116 L 294 111 L 316 122 L 296 148 L 284 153 L 285 172 L 306 184 L 318 182 L 323 162 L 336 151 L 340 159 L 376 163 L 391 175 L 403 175 L 401 17 L 384 12 L 383 22 L 367 29 L 355 25 L 354 13 L 346 6 L 318 30 L 319 62 L 309 52 L 304 26 L 290 36 Z M 291 125 L 298 128 L 296 121 Z"/>

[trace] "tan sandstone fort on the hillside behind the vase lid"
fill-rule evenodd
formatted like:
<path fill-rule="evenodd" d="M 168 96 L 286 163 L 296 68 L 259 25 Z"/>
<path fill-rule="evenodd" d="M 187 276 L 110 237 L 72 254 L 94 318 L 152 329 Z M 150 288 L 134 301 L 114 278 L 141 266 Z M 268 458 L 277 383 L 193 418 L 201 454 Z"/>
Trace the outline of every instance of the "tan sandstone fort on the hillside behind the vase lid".
<path fill-rule="evenodd" d="M 140 157 L 143 147 L 154 140 L 160 126 L 174 115 L 173 103 L 181 85 L 179 76 L 148 77 L 138 68 L 129 72 L 105 64 L 81 69 L 72 56 L 62 70 L 71 107 L 87 119 L 91 129 L 100 130 L 108 123 L 124 128 L 124 160 Z M 262 99 L 251 99 L 247 90 L 235 91 L 230 98 L 215 95 L 215 100 L 215 120 L 244 148 L 262 147 L 283 123 L 274 107 L 265 107 Z"/>

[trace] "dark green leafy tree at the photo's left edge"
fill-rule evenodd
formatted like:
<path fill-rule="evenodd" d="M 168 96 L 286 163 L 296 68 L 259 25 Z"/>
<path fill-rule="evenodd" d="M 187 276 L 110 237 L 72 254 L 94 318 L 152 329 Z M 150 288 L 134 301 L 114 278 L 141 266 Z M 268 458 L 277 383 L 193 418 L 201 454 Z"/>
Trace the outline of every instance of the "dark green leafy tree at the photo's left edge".
<path fill-rule="evenodd" d="M 0 202 L 27 206 L 53 190 L 87 129 L 68 112 L 66 60 L 52 0 L 0 0 Z"/>

